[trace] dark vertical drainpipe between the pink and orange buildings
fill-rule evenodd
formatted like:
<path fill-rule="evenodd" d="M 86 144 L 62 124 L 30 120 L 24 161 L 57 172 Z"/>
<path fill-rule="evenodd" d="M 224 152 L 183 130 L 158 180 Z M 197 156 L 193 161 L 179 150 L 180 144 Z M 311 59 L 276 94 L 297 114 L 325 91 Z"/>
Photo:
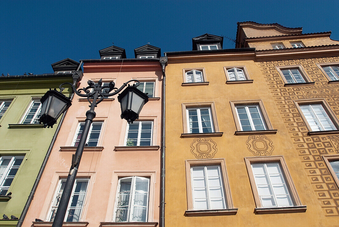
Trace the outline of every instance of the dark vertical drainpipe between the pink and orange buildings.
<path fill-rule="evenodd" d="M 161 160 L 160 160 L 160 218 L 159 227 L 165 227 L 165 67 L 167 57 L 160 57 L 162 68 L 162 118 L 161 118 Z"/>

